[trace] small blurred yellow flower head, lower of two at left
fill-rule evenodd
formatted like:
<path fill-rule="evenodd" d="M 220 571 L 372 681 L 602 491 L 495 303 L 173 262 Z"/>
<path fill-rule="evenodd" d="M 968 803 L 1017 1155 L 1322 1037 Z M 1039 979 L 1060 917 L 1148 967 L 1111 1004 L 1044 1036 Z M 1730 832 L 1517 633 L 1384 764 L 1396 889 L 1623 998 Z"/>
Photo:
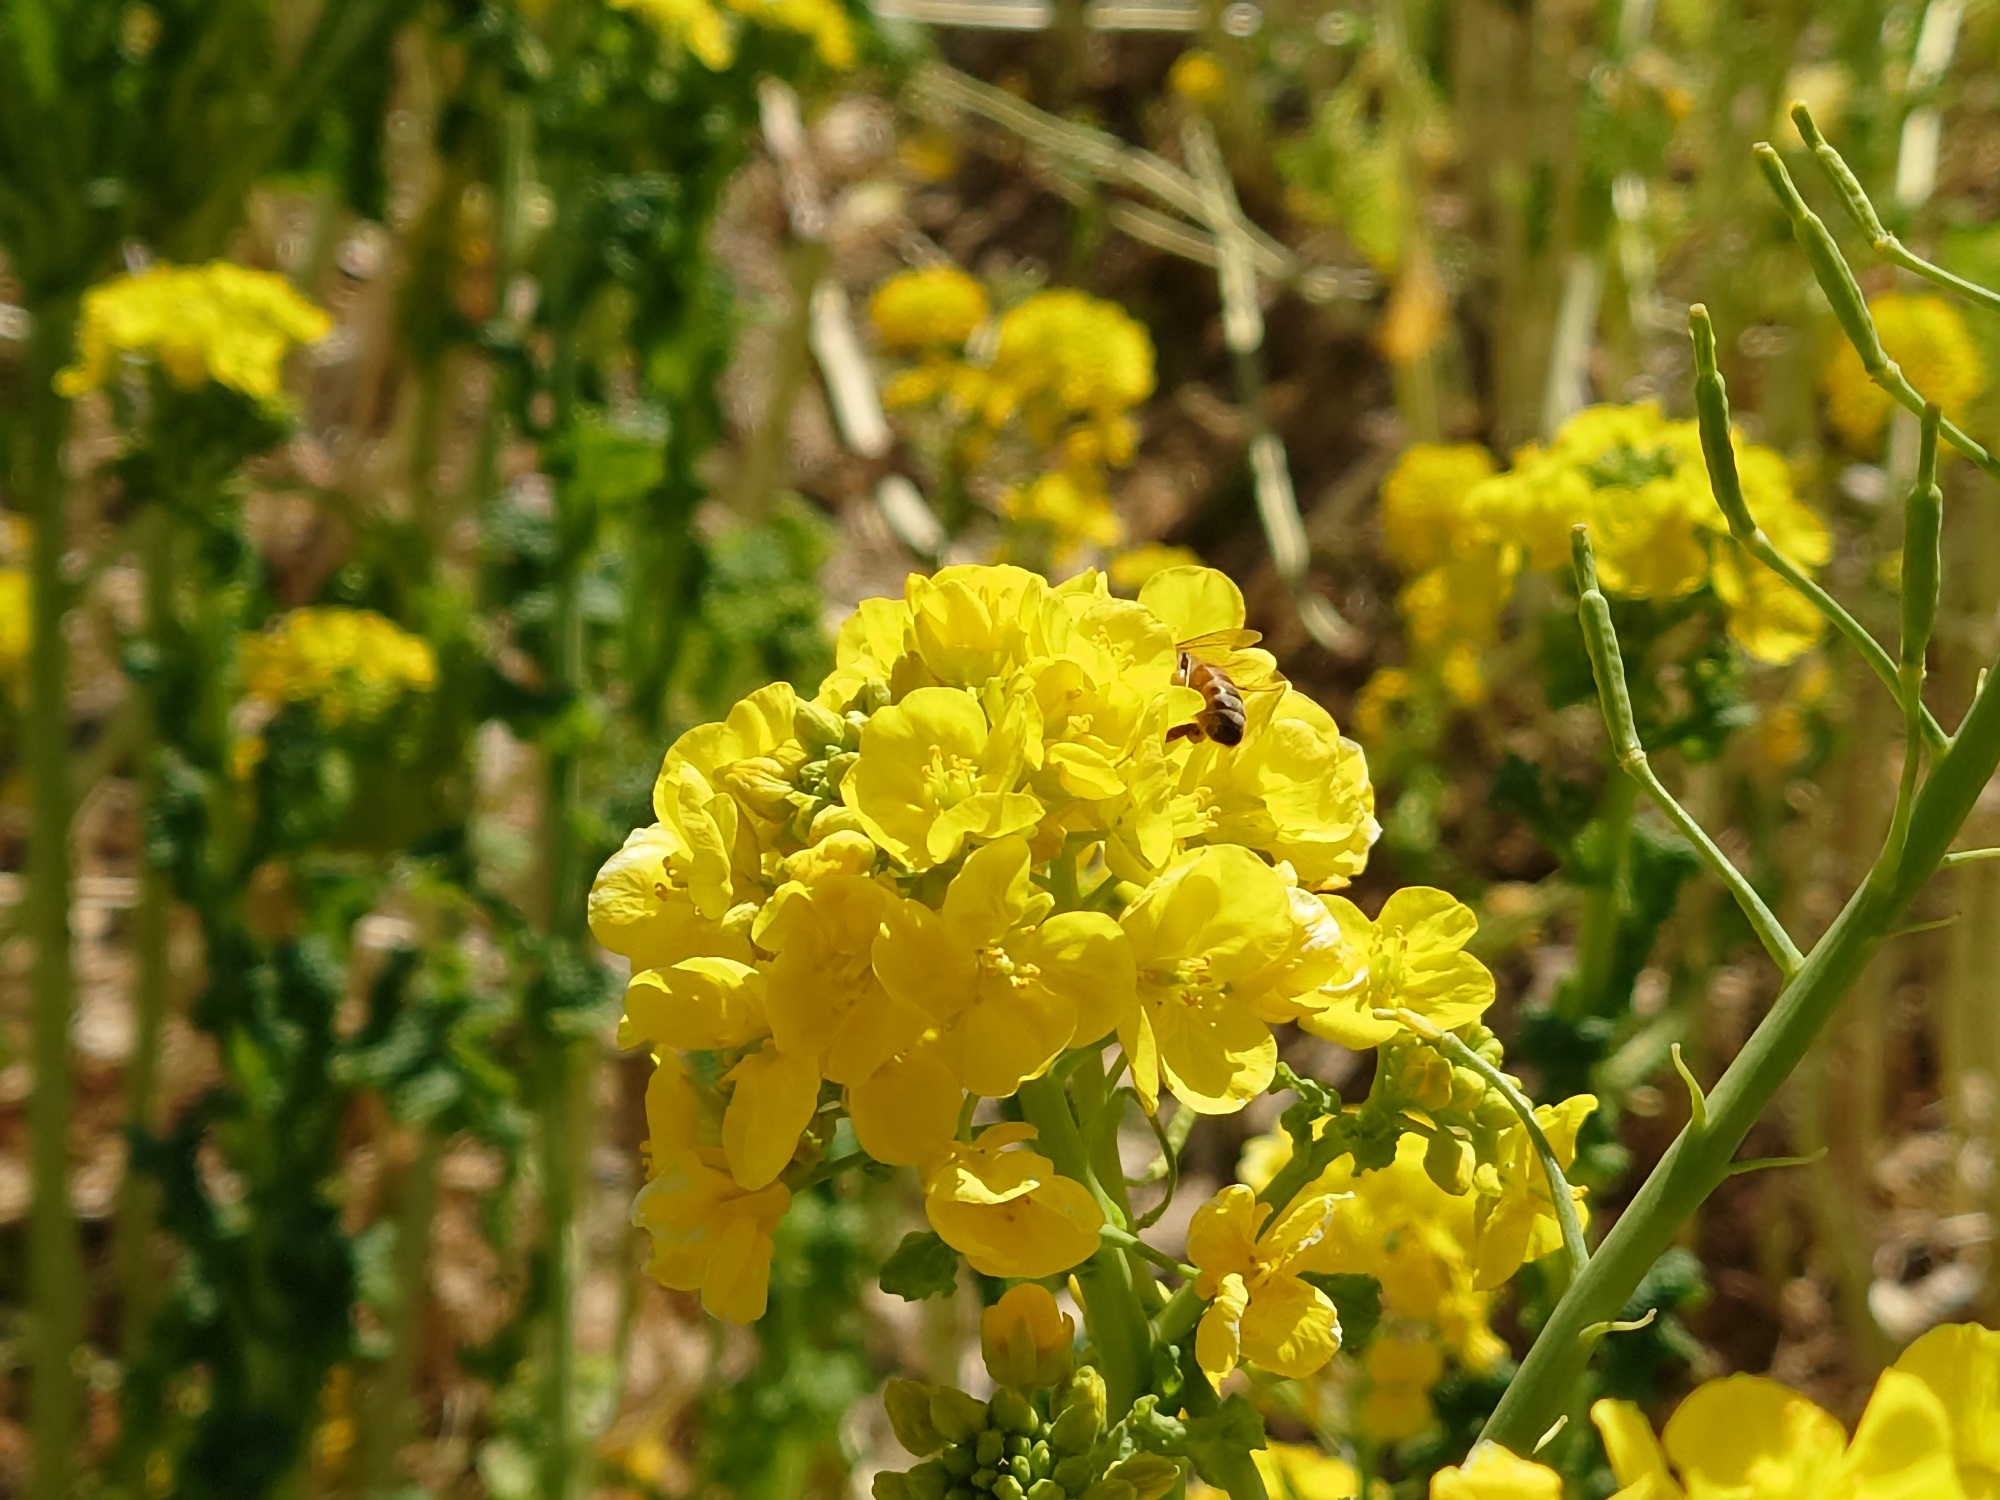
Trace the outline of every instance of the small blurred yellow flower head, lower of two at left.
<path fill-rule="evenodd" d="M 264 704 L 312 704 L 326 724 L 382 718 L 406 692 L 430 692 L 438 658 L 374 610 L 314 606 L 244 636 L 244 690 Z"/>

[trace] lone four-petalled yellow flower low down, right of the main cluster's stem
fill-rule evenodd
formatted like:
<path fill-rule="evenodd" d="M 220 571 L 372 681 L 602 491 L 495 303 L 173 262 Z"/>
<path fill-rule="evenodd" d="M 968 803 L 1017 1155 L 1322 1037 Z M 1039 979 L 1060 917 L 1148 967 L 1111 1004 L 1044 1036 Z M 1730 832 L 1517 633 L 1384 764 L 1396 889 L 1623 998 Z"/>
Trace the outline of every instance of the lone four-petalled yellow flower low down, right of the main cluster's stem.
<path fill-rule="evenodd" d="M 1240 1182 L 1194 1210 L 1188 1260 L 1202 1272 L 1194 1290 L 1208 1298 L 1194 1358 L 1210 1380 L 1220 1382 L 1238 1360 L 1302 1380 L 1334 1358 L 1340 1314 L 1300 1278 L 1316 1268 L 1312 1256 L 1334 1210 L 1334 1198 L 1300 1198 L 1266 1228 L 1270 1204 Z"/>

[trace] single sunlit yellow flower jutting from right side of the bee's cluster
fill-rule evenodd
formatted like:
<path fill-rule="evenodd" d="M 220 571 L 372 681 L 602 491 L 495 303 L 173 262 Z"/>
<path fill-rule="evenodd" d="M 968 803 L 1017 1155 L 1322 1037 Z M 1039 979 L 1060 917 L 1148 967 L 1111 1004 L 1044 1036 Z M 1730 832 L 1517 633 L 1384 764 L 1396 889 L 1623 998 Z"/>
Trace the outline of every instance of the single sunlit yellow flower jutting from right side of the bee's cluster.
<path fill-rule="evenodd" d="M 1376 1020 L 1376 1010 L 1414 1010 L 1440 1032 L 1486 1014 L 1494 1002 L 1494 976 L 1466 942 L 1478 932 L 1472 908 L 1432 886 L 1404 886 L 1370 922 L 1344 896 L 1328 896 L 1328 910 L 1368 954 L 1368 982 L 1332 1000 L 1300 1024 L 1314 1036 L 1352 1048 L 1380 1046 L 1404 1030 L 1402 1022 Z"/>

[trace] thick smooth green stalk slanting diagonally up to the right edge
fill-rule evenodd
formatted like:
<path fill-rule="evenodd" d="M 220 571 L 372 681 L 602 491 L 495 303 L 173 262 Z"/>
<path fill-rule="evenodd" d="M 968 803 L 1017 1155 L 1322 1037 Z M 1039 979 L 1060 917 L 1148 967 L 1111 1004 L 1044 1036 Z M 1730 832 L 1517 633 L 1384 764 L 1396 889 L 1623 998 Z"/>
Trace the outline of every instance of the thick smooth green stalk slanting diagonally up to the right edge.
<path fill-rule="evenodd" d="M 1988 678 L 1950 748 L 1916 794 L 1908 838 L 1884 850 L 1888 876 L 1864 882 L 1834 918 L 1804 966 L 1708 1096 L 1702 1130 L 1682 1130 L 1646 1178 L 1638 1196 L 1598 1244 L 1590 1268 L 1556 1304 L 1500 1398 L 1484 1436 L 1528 1452 L 1568 1408 L 1596 1346 L 1592 1328 L 1624 1310 L 1640 1278 L 1674 1242 L 1730 1172 L 1730 1160 L 1750 1126 L 1784 1086 L 1820 1028 L 1894 932 L 1916 892 L 1936 872 L 1946 848 L 1972 812 L 1980 790 L 2000 768 L 2000 686 Z"/>

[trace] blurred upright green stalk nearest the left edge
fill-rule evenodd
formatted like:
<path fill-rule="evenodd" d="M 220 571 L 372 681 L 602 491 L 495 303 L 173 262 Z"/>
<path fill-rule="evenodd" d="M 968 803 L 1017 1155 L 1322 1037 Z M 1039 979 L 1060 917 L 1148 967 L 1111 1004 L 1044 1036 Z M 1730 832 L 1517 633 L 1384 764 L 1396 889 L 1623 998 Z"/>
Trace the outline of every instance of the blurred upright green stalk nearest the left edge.
<path fill-rule="evenodd" d="M 28 1432 L 34 1450 L 32 1500 L 64 1500 L 76 1460 L 78 1388 L 72 1356 L 84 1336 L 82 1246 L 70 1212 L 70 1116 L 76 1078 L 70 1072 L 70 1020 L 76 1010 L 76 968 L 70 952 L 70 652 L 62 634 L 68 584 L 64 526 L 62 438 L 68 406 L 52 380 L 68 354 L 74 306 L 36 308 L 28 360 L 26 410 L 12 420 L 16 500 L 34 526 L 28 554 L 30 630 L 28 722 L 22 756 L 28 766 L 28 936 L 34 968 L 28 1024 L 34 1092 L 28 1094 Z"/>

